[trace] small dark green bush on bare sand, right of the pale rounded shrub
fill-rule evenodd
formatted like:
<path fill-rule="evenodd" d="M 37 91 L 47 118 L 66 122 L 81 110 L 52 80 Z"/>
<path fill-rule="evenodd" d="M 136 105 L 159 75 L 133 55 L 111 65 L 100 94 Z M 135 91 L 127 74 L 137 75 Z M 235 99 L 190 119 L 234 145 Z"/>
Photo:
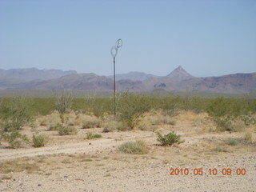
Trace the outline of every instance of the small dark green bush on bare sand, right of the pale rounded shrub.
<path fill-rule="evenodd" d="M 169 134 L 160 134 L 159 132 L 157 133 L 157 140 L 158 142 L 161 142 L 162 146 L 172 146 L 175 143 L 180 144 L 184 141 L 181 140 L 181 135 L 175 134 L 174 131 L 171 131 Z"/>

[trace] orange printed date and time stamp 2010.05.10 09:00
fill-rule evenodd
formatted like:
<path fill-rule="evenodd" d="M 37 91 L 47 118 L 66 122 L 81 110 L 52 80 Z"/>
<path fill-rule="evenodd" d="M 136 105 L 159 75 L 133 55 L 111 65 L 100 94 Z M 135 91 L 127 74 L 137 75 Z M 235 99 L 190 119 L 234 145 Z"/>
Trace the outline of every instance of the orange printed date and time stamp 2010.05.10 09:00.
<path fill-rule="evenodd" d="M 202 168 L 194 168 L 194 169 L 170 169 L 170 175 L 246 175 L 246 169 L 238 168 L 238 169 L 230 169 L 230 168 L 223 168 L 221 170 L 218 170 L 216 168 L 214 169 L 208 169 L 203 170 Z"/>

